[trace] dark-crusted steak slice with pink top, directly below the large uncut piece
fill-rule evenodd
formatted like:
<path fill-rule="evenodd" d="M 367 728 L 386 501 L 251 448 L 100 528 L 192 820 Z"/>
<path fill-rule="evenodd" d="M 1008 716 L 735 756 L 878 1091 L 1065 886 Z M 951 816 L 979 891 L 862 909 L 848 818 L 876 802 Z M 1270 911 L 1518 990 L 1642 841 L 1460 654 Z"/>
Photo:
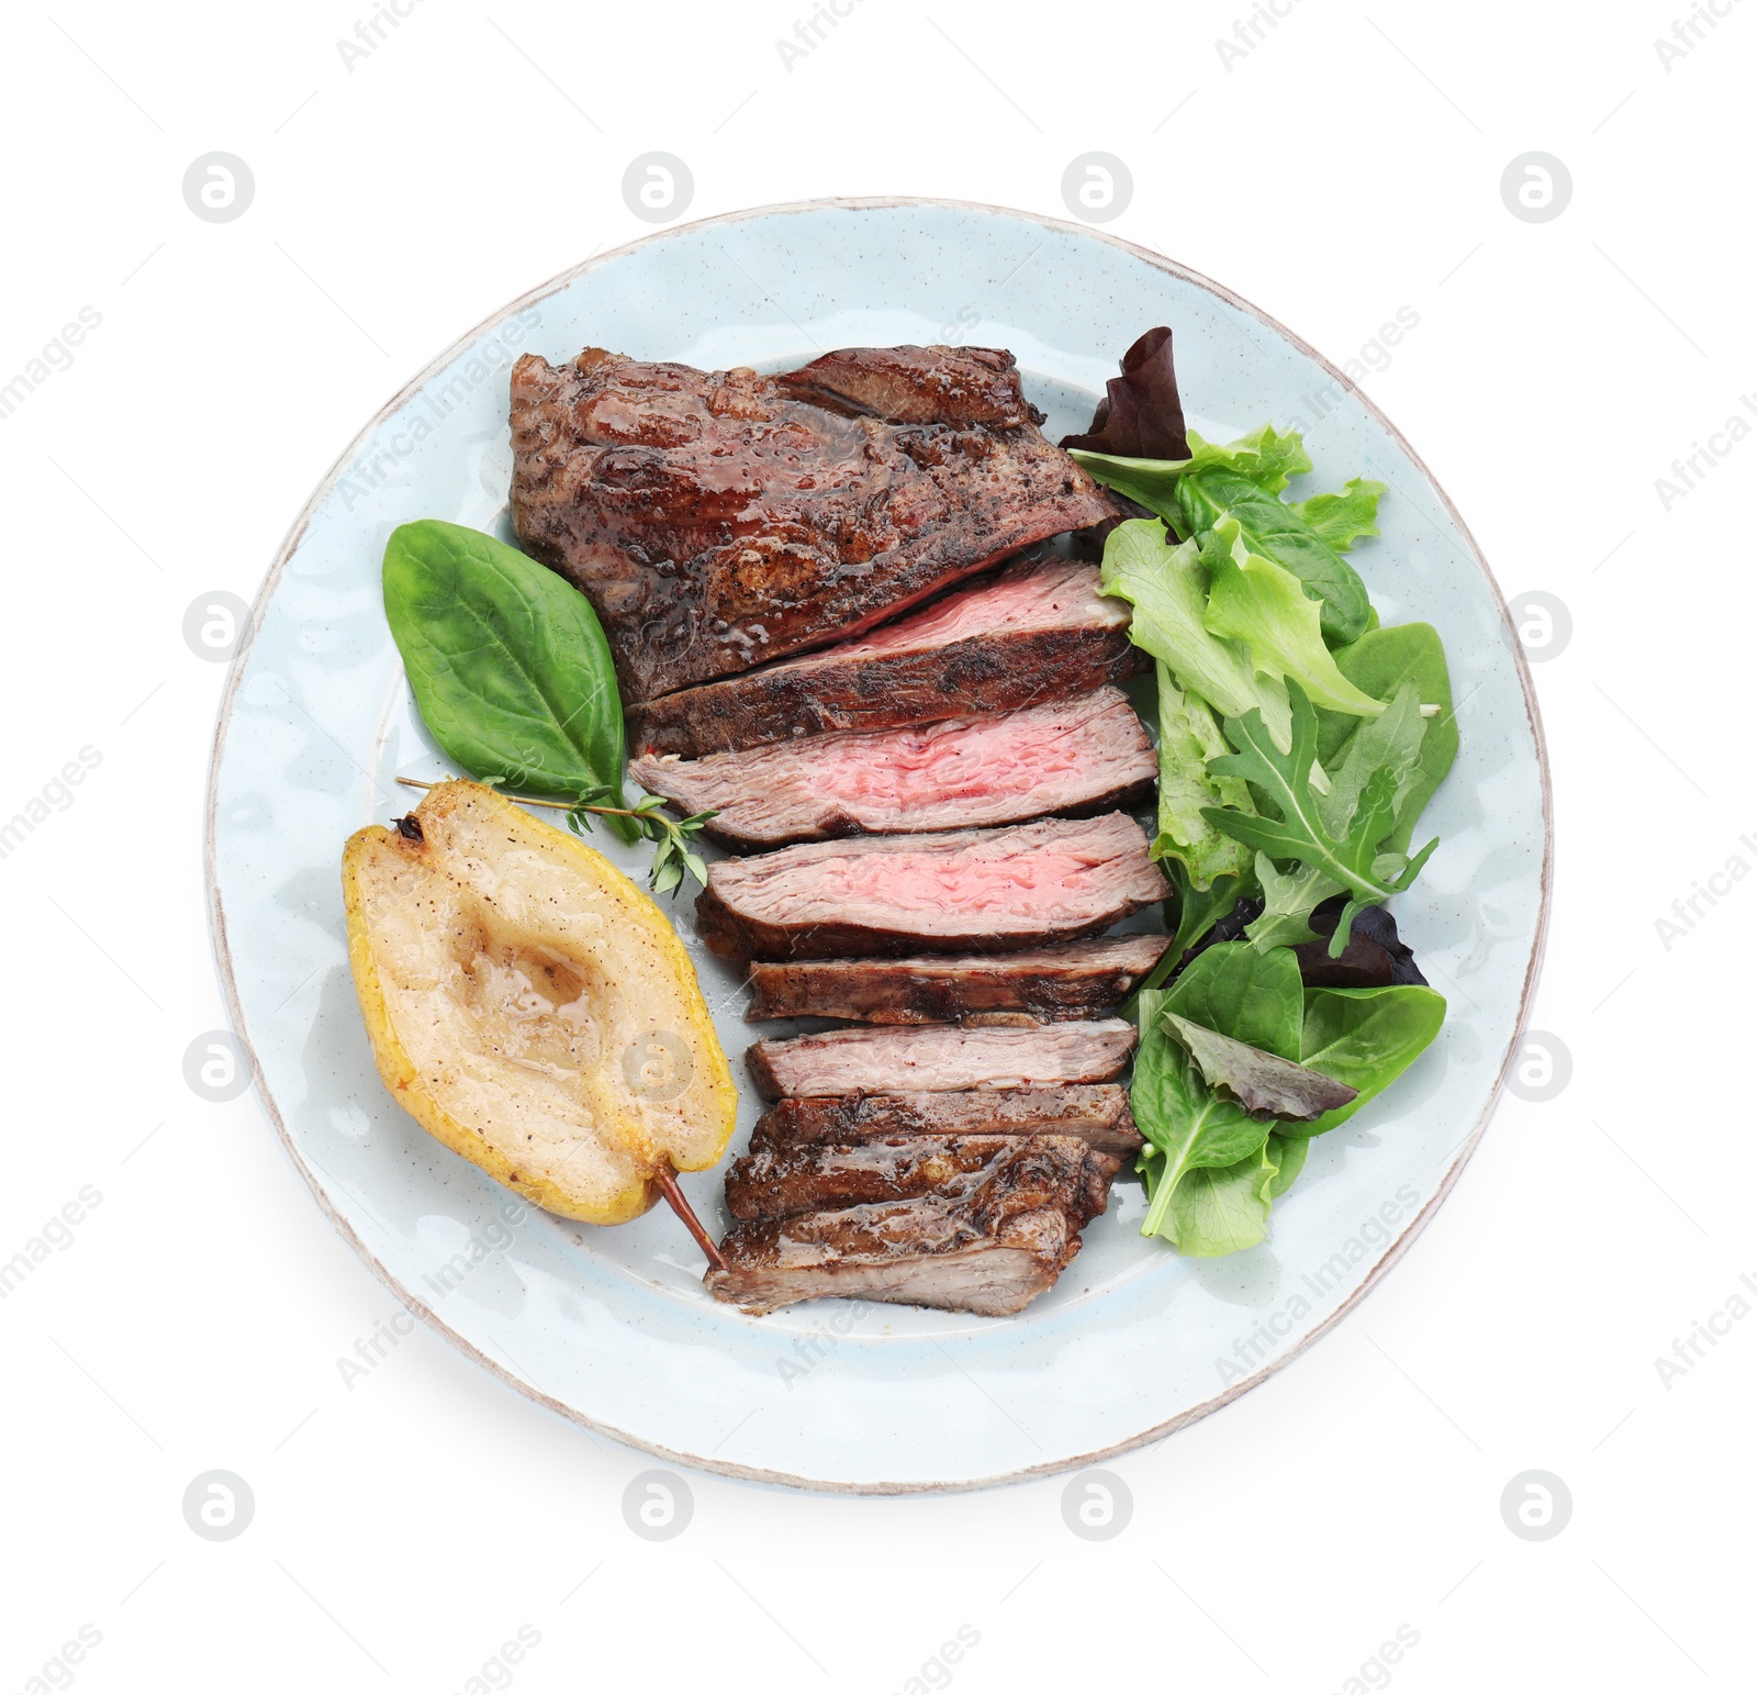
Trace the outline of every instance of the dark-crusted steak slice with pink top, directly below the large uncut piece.
<path fill-rule="evenodd" d="M 1017 559 L 856 642 L 647 702 L 629 746 L 698 758 L 1066 700 L 1135 670 L 1128 617 L 1098 566 Z"/>

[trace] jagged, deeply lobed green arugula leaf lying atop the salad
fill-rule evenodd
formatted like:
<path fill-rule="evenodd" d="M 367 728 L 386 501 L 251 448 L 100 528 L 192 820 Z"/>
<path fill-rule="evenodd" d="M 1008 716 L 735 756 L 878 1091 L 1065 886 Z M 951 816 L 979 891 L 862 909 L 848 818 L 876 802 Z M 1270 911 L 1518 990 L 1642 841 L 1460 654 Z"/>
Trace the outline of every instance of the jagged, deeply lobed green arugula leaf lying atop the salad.
<path fill-rule="evenodd" d="M 1318 721 L 1298 684 L 1290 684 L 1293 705 L 1293 746 L 1276 747 L 1260 714 L 1226 719 L 1226 740 L 1235 749 L 1211 767 L 1221 777 L 1244 777 L 1256 784 L 1281 814 L 1276 819 L 1247 812 L 1209 807 L 1205 818 L 1218 830 L 1237 837 L 1247 848 L 1272 860 L 1298 860 L 1307 870 L 1321 872 L 1349 893 L 1349 904 L 1337 920 L 1330 941 L 1332 957 L 1348 946 L 1356 907 L 1379 906 L 1399 890 L 1409 888 L 1439 846 L 1435 837 L 1413 860 L 1402 853 L 1379 853 L 1397 814 L 1397 772 L 1377 767 L 1362 784 L 1355 814 L 1342 832 L 1332 832 L 1312 788 L 1312 756 Z"/>

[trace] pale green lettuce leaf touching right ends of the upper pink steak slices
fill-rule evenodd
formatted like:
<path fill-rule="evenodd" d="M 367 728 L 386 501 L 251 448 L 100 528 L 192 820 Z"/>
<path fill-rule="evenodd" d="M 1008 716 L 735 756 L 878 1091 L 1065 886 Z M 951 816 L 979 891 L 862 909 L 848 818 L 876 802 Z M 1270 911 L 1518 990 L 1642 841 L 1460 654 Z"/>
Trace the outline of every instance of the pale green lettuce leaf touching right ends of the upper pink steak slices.
<path fill-rule="evenodd" d="M 1226 717 L 1262 714 L 1276 746 L 1286 746 L 1286 686 L 1258 677 L 1237 642 L 1209 631 L 1207 571 L 1193 542 L 1172 547 L 1153 519 L 1117 524 L 1103 545 L 1098 587 L 1133 603 L 1130 640 L 1163 659 L 1186 689 Z"/>

